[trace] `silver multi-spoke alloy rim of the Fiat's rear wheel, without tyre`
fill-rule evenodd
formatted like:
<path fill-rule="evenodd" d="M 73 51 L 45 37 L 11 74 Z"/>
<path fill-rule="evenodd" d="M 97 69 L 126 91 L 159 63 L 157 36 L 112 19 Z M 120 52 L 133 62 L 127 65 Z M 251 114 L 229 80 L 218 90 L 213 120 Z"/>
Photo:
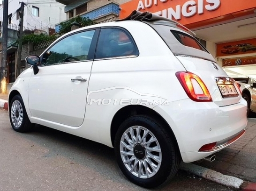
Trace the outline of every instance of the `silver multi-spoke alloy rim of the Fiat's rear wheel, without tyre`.
<path fill-rule="evenodd" d="M 162 163 L 155 135 L 145 127 L 129 127 L 121 137 L 120 155 L 127 170 L 139 178 L 153 177 Z"/>

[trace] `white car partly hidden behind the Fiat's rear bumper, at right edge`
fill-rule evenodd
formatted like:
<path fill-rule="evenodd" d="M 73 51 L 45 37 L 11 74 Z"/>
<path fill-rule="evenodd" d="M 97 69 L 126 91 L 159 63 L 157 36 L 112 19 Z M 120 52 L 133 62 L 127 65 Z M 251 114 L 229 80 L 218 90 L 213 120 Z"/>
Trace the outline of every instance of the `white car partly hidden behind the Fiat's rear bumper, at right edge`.
<path fill-rule="evenodd" d="M 256 81 L 252 78 L 233 78 L 240 87 L 243 99 L 247 101 L 247 116 L 256 112 Z"/>

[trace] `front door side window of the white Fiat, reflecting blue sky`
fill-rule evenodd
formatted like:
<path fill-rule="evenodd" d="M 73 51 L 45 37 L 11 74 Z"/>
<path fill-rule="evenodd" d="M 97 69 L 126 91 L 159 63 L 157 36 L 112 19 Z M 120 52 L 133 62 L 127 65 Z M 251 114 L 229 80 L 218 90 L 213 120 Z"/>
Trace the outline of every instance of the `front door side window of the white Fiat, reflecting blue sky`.
<path fill-rule="evenodd" d="M 42 57 L 41 65 L 87 60 L 95 30 L 70 35 L 53 45 Z"/>

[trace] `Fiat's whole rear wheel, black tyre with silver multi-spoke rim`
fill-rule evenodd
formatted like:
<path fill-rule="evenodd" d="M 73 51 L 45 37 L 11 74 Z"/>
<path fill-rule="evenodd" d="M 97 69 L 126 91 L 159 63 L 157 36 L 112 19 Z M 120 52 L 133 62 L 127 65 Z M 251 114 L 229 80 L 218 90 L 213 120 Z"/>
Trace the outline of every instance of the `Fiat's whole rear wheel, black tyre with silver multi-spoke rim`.
<path fill-rule="evenodd" d="M 134 184 L 153 188 L 177 173 L 181 162 L 180 151 L 167 128 L 152 117 L 135 115 L 125 120 L 117 130 L 114 142 L 117 163 L 123 174 Z M 140 136 L 136 132 L 140 132 Z M 131 134 L 136 139 L 132 139 Z M 145 144 L 151 139 L 154 141 Z"/>

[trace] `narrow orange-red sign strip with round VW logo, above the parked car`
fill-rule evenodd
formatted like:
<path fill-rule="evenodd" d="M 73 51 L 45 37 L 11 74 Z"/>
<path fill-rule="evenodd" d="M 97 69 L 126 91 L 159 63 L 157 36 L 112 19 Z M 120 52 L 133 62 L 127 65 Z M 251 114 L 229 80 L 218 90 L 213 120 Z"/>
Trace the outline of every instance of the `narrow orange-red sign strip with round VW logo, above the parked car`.
<path fill-rule="evenodd" d="M 256 64 L 256 57 L 241 57 L 241 58 L 232 58 L 225 59 L 222 61 L 222 66 L 240 66 L 240 65 L 248 65 L 248 64 Z"/>

